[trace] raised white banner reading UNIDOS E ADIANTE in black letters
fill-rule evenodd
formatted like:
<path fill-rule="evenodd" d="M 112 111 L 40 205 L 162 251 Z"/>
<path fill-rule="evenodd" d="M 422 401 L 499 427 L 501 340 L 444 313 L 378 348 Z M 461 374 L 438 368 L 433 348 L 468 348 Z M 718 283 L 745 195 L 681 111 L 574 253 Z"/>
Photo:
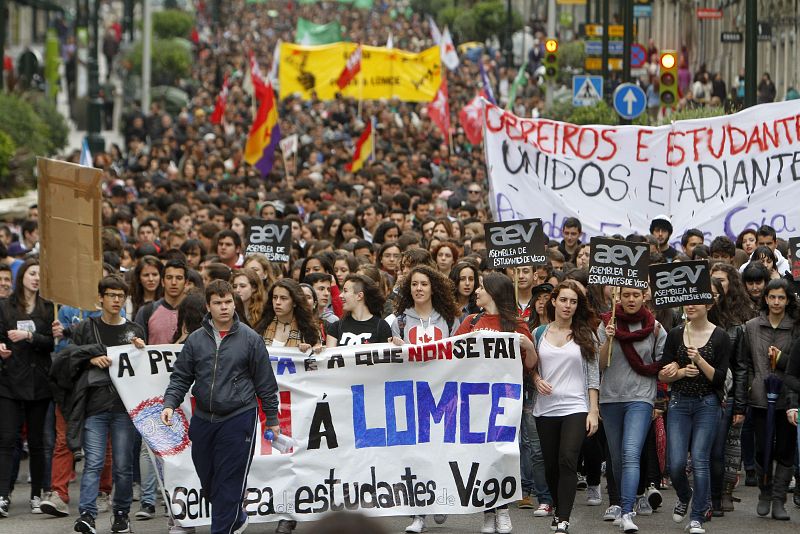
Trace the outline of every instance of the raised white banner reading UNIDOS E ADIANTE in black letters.
<path fill-rule="evenodd" d="M 800 104 L 764 104 L 735 115 L 657 128 L 578 126 L 484 107 L 486 165 L 495 220 L 541 218 L 561 239 L 578 217 L 584 241 L 649 233 L 672 218 L 672 240 L 699 228 L 709 241 L 769 224 L 800 229 Z"/>

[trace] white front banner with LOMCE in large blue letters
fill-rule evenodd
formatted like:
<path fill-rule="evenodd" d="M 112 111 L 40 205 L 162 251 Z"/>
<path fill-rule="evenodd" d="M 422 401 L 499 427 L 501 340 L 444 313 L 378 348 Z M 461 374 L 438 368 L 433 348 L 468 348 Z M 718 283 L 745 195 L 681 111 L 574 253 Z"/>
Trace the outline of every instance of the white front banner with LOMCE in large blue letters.
<path fill-rule="evenodd" d="M 109 349 L 114 385 L 156 454 L 175 519 L 210 523 L 191 459 L 190 397 L 171 427 L 159 416 L 181 345 Z M 282 454 L 263 440 L 248 478 L 254 522 L 369 515 L 464 514 L 519 499 L 522 360 L 516 334 L 476 332 L 425 345 L 270 348 Z M 262 418 L 263 434 L 263 418 Z"/>

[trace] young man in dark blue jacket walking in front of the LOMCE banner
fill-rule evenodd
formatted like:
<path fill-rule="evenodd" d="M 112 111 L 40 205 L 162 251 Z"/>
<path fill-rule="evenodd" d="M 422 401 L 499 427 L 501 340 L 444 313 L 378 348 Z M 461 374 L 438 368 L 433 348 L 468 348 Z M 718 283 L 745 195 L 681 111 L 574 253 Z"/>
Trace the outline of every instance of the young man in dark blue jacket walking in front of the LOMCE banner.
<path fill-rule="evenodd" d="M 189 437 L 197 476 L 211 501 L 211 534 L 237 534 L 248 523 L 242 501 L 258 441 L 257 399 L 278 436 L 278 384 L 264 340 L 236 315 L 233 287 L 223 280 L 208 284 L 206 306 L 203 326 L 187 338 L 175 361 L 161 420 L 172 424 L 174 410 L 194 384 Z"/>

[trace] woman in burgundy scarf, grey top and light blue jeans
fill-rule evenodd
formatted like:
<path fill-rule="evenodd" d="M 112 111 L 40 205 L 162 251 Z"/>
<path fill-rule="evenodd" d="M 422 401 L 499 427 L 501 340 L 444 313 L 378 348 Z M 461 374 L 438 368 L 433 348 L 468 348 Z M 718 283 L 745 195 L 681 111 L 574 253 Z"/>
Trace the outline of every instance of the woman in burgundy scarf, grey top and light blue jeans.
<path fill-rule="evenodd" d="M 644 306 L 641 289 L 623 288 L 616 306 L 603 320 L 597 335 L 600 348 L 600 415 L 606 430 L 614 479 L 620 490 L 620 528 L 630 534 L 639 486 L 639 460 L 650 430 L 656 382 L 661 369 L 658 360 L 667 333 Z M 609 356 L 609 346 L 613 347 Z"/>

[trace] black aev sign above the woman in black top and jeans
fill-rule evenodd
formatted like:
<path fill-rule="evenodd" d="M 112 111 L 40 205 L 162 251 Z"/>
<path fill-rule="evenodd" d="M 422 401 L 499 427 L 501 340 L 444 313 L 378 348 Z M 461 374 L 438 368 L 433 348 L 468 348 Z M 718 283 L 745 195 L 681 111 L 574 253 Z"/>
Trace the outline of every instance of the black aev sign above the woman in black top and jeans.
<path fill-rule="evenodd" d="M 713 304 L 711 270 L 705 260 L 650 266 L 650 291 L 656 309 Z"/>

